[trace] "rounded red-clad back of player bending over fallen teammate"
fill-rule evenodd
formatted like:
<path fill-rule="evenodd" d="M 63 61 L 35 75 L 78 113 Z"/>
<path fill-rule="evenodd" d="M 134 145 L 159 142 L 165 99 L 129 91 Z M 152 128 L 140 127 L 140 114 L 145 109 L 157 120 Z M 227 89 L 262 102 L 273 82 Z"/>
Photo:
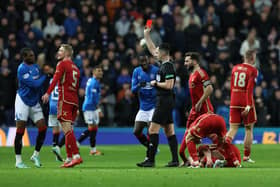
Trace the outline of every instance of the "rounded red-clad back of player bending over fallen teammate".
<path fill-rule="evenodd" d="M 227 133 L 225 120 L 215 114 L 204 114 L 195 123 L 191 126 L 190 133 L 197 138 L 206 138 L 211 134 L 224 137 Z"/>

